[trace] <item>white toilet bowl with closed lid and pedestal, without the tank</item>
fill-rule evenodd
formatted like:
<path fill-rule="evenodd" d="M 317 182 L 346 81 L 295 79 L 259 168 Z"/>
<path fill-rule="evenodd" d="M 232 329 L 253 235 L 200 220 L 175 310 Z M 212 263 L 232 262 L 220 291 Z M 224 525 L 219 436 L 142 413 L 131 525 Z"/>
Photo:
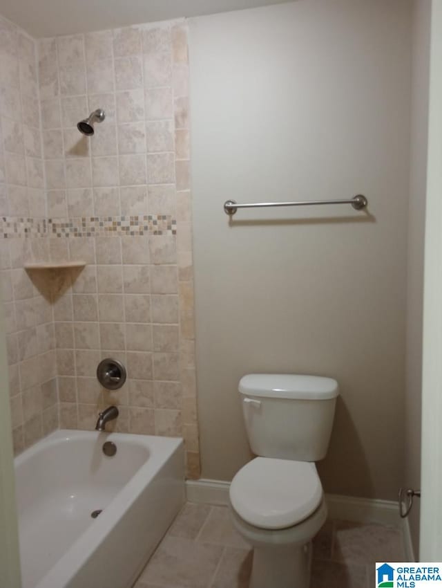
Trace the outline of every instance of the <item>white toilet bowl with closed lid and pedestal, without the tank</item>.
<path fill-rule="evenodd" d="M 308 588 L 311 540 L 327 518 L 314 463 L 256 457 L 229 493 L 233 524 L 253 546 L 250 588 Z"/>

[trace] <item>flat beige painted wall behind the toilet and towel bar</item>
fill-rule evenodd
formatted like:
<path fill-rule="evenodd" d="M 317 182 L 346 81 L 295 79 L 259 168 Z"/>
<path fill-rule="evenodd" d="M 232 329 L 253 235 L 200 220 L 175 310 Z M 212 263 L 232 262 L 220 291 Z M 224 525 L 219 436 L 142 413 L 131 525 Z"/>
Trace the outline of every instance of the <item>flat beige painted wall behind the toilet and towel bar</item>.
<path fill-rule="evenodd" d="M 410 5 L 314 0 L 190 21 L 202 475 L 249 459 L 238 380 L 336 378 L 325 490 L 403 471 Z M 240 202 L 369 199 L 240 211 Z"/>

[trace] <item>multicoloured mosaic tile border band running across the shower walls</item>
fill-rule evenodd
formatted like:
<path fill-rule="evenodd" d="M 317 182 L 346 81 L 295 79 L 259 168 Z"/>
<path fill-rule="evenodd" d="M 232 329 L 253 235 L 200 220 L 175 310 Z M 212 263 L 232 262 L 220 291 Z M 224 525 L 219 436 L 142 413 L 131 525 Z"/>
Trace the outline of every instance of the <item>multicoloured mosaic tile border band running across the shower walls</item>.
<path fill-rule="evenodd" d="M 23 219 L 1 217 L 1 237 L 141 237 L 176 235 L 177 221 L 170 214 L 134 217 L 76 217 Z"/>

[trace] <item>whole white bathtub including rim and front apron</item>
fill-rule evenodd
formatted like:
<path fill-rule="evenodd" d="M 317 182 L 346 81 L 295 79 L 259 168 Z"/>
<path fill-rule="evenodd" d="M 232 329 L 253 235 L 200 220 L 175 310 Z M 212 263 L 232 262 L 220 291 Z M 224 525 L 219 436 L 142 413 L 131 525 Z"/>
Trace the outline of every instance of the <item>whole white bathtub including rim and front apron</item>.
<path fill-rule="evenodd" d="M 15 464 L 22 588 L 130 588 L 184 504 L 182 439 L 61 430 Z"/>

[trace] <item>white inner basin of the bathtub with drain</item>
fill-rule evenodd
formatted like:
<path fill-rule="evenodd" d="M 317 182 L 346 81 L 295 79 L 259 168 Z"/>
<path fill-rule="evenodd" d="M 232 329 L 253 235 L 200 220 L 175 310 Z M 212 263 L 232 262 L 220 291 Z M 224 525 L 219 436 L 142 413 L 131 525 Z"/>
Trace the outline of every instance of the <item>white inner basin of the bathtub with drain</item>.
<path fill-rule="evenodd" d="M 61 555 L 106 511 L 113 498 L 146 463 L 148 448 L 115 441 L 117 454 L 97 440 L 57 439 L 17 466 L 17 506 L 23 588 L 35 586 Z M 99 516 L 102 516 L 102 513 Z M 86 588 L 86 587 L 85 587 Z"/>

